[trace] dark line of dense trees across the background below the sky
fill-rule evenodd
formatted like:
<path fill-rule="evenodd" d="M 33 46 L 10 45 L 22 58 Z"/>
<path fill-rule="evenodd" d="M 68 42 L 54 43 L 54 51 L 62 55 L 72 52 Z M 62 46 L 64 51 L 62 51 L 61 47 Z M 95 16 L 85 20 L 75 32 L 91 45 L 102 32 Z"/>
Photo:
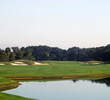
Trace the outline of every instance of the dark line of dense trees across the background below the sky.
<path fill-rule="evenodd" d="M 49 46 L 12 47 L 0 49 L 0 61 L 18 59 L 57 61 L 110 61 L 110 45 L 95 48 L 72 47 L 64 50 Z"/>

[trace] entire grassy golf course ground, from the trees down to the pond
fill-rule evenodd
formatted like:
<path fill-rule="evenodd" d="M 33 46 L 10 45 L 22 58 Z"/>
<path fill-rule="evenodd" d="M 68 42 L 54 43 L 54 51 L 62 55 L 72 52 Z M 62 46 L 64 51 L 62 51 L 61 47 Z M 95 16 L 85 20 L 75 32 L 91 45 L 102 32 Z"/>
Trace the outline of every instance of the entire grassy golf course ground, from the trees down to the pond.
<path fill-rule="evenodd" d="M 19 80 L 95 80 L 110 77 L 110 64 L 100 61 L 42 61 L 38 65 L 29 60 L 20 61 L 27 65 L 11 65 L 12 62 L 0 65 L 0 100 L 33 100 L 2 93 L 18 87 Z"/>

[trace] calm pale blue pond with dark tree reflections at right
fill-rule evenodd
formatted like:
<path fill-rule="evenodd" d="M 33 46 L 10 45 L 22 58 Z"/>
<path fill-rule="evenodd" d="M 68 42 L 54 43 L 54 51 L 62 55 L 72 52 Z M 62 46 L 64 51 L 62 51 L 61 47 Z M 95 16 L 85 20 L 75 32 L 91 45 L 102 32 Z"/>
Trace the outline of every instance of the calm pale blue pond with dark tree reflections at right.
<path fill-rule="evenodd" d="M 31 81 L 21 84 L 18 88 L 4 93 L 39 100 L 110 100 L 109 78 L 94 81 Z"/>

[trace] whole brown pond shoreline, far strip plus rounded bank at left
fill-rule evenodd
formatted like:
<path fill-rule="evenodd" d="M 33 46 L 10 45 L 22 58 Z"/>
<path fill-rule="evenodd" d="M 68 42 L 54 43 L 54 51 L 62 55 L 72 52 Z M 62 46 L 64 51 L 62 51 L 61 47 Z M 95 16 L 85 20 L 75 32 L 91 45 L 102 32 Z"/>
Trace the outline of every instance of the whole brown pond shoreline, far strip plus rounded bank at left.
<path fill-rule="evenodd" d="M 110 77 L 110 74 L 86 74 L 86 75 L 65 75 L 65 76 L 21 76 L 21 77 L 5 77 L 10 80 L 18 80 L 15 82 L 10 83 L 2 83 L 0 84 L 0 91 L 13 89 L 19 87 L 21 85 L 19 83 L 19 80 L 54 80 L 54 79 L 101 79 L 101 78 L 107 78 Z"/>

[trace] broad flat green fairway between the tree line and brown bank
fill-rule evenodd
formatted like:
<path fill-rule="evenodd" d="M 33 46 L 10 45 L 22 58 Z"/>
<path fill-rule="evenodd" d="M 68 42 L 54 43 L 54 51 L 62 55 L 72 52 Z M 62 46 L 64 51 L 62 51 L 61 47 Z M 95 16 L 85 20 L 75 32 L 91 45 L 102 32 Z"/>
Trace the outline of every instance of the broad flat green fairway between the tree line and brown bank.
<path fill-rule="evenodd" d="M 61 76 L 110 74 L 110 64 L 84 64 L 71 61 L 46 61 L 49 65 L 0 66 L 1 77 L 11 76 Z"/>

